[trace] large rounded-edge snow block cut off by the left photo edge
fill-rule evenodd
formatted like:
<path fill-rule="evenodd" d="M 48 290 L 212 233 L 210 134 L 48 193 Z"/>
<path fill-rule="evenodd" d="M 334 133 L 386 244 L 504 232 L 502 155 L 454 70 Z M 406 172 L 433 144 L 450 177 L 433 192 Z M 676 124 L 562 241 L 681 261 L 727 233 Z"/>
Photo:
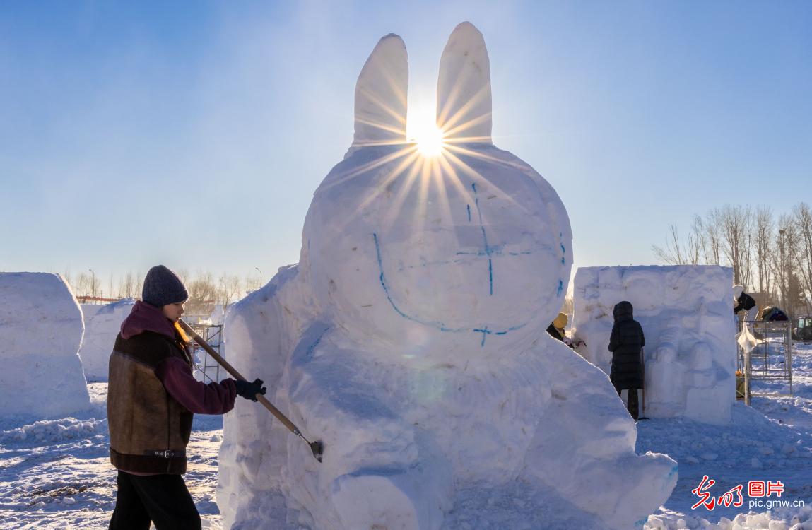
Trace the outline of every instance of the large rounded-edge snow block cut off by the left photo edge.
<path fill-rule="evenodd" d="M 0 273 L 0 414 L 47 419 L 88 409 L 83 332 L 61 276 Z"/>

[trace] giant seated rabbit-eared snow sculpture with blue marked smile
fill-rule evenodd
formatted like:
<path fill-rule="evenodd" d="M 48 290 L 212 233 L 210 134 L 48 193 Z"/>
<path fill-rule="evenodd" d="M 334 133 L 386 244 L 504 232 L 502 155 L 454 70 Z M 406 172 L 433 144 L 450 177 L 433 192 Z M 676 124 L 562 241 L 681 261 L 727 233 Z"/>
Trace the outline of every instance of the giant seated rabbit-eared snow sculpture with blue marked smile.
<path fill-rule="evenodd" d="M 470 500 L 494 493 L 528 517 L 555 505 L 578 528 L 633 528 L 671 493 L 676 463 L 635 455 L 606 376 L 545 332 L 572 233 L 550 184 L 490 140 L 482 34 L 460 24 L 443 51 L 436 156 L 406 141 L 407 80 L 403 41 L 383 37 L 299 264 L 227 314 L 231 362 L 326 452 L 318 463 L 238 403 L 220 455 L 225 526 L 434 530 L 460 513 L 499 526 Z"/>

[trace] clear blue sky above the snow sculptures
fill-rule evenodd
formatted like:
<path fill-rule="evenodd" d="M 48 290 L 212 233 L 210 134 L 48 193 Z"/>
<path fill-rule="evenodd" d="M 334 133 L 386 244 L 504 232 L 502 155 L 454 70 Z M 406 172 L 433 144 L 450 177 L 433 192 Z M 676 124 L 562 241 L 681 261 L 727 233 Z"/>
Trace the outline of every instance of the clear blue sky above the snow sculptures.
<path fill-rule="evenodd" d="M 494 142 L 564 200 L 577 266 L 655 263 L 671 223 L 725 204 L 812 201 L 812 2 L 2 2 L 0 270 L 267 281 L 378 39 L 404 38 L 416 106 L 463 20 Z"/>

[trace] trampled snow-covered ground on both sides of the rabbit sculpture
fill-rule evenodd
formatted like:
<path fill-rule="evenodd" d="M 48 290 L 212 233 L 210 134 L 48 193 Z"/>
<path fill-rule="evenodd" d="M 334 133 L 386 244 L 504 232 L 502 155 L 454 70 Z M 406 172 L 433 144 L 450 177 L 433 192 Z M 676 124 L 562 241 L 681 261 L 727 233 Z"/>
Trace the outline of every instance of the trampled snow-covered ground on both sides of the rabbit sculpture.
<path fill-rule="evenodd" d="M 637 424 L 638 452 L 667 453 L 680 464 L 680 480 L 671 498 L 650 516 L 645 528 L 812 528 L 812 345 L 796 345 L 793 369 L 793 397 L 757 396 L 752 408 L 737 403 L 727 427 L 680 419 Z M 782 387 L 773 383 L 762 390 Z M 83 415 L 37 422 L 0 418 L 0 528 L 106 528 L 115 491 L 108 460 L 106 383 L 90 383 L 89 392 L 93 408 Z M 220 528 L 214 493 L 221 441 L 222 417 L 196 416 L 186 480 L 204 528 Z M 713 498 L 742 485 L 743 506 L 692 509 L 700 500 L 692 490 L 704 475 L 715 480 L 706 489 Z M 780 498 L 775 494 L 750 498 L 751 480 L 780 480 L 784 491 Z M 517 505 L 509 489 L 493 494 L 472 491 L 469 500 L 493 506 L 504 529 L 580 526 L 558 517 L 550 499 L 542 503 L 548 513 L 538 506 Z M 790 506 L 749 507 L 754 501 Z M 793 506 L 800 502 L 806 506 Z M 447 516 L 444 528 L 481 527 L 466 518 L 462 503 Z"/>

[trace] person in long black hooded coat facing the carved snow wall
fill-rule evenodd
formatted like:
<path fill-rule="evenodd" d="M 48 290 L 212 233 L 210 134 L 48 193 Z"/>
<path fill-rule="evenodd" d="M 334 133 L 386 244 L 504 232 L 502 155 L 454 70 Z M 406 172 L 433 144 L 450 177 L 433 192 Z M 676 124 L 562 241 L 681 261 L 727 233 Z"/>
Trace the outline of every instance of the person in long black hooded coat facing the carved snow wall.
<path fill-rule="evenodd" d="M 643 388 L 644 384 L 641 352 L 646 345 L 646 337 L 640 323 L 634 320 L 630 302 L 624 300 L 616 304 L 613 314 L 615 325 L 612 326 L 609 338 L 611 351 L 609 379 L 621 398 L 623 390 L 627 390 L 626 407 L 628 413 L 637 420 L 639 414 L 637 390 Z"/>

